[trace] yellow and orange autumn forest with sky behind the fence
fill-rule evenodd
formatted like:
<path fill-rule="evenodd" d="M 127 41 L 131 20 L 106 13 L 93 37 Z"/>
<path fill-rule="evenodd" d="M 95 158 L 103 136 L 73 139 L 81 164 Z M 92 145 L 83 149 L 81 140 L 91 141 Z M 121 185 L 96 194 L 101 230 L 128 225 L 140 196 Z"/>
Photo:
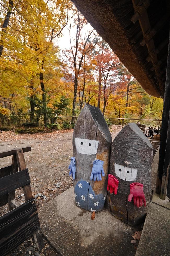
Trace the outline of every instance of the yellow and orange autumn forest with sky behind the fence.
<path fill-rule="evenodd" d="M 75 118 L 60 116 L 78 116 L 85 103 L 118 118 L 108 124 L 161 119 L 163 100 L 143 90 L 71 1 L 2 0 L 0 12 L 0 130 L 73 128 Z"/>

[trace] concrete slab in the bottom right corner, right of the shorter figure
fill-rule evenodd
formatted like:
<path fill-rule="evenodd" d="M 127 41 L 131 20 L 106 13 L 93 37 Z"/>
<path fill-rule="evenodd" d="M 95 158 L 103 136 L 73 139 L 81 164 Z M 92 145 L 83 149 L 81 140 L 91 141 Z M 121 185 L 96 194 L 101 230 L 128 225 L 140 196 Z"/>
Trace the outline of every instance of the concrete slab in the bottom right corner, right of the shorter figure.
<path fill-rule="evenodd" d="M 135 256 L 170 255 L 170 210 L 150 203 Z"/>

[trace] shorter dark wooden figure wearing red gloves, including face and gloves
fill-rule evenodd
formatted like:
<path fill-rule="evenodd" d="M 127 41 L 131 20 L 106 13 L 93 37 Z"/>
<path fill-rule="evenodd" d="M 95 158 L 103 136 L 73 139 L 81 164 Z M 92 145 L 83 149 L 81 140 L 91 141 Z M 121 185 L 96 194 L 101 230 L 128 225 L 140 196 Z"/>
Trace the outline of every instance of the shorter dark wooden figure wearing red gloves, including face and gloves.
<path fill-rule="evenodd" d="M 135 226 L 143 220 L 151 195 L 153 147 L 135 123 L 127 124 L 112 142 L 109 201 L 112 214 Z"/>

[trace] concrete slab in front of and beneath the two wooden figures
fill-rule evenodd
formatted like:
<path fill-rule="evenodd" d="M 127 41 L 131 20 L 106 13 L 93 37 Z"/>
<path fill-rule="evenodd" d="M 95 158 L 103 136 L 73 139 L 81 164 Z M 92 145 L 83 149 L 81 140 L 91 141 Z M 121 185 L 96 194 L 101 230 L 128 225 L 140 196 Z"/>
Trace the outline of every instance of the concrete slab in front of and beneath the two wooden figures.
<path fill-rule="evenodd" d="M 61 255 L 135 255 L 130 243 L 138 227 L 126 225 L 112 216 L 107 201 L 96 213 L 75 205 L 73 187 L 50 200 L 38 210 L 43 235 Z"/>

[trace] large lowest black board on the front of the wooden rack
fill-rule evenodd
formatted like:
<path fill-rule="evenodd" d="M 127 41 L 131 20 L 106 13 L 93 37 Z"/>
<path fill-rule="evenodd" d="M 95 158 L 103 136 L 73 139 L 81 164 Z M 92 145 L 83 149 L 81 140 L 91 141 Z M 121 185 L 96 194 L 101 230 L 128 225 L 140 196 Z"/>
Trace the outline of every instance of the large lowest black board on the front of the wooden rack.
<path fill-rule="evenodd" d="M 34 199 L 0 217 L 0 254 L 6 255 L 40 228 Z"/>

